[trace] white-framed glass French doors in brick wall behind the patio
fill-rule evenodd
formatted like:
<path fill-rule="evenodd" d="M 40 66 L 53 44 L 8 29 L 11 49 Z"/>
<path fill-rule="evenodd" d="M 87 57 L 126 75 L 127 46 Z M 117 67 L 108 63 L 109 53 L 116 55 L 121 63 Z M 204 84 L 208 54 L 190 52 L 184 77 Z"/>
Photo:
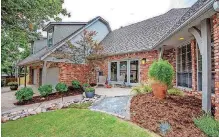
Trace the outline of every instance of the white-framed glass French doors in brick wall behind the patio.
<path fill-rule="evenodd" d="M 123 76 L 126 85 L 136 85 L 139 83 L 139 60 L 110 62 L 108 75 L 110 83 L 116 84 L 118 77 Z"/>

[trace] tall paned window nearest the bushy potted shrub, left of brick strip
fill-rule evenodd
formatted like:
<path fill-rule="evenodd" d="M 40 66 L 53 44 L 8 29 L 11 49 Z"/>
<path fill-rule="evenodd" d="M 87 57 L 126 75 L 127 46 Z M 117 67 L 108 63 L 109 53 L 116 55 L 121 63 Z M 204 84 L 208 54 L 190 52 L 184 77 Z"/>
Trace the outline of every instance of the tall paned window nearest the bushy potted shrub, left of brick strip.
<path fill-rule="evenodd" d="M 190 44 L 178 48 L 177 86 L 192 88 L 192 55 Z"/>

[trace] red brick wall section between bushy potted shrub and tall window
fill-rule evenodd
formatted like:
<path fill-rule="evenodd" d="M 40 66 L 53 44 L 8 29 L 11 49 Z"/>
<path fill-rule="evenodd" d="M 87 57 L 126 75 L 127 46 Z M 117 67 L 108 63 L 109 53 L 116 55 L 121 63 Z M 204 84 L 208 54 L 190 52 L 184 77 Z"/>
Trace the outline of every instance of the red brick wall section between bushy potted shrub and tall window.
<path fill-rule="evenodd" d="M 170 64 L 173 66 L 174 71 L 175 71 L 173 83 L 174 83 L 174 85 L 176 85 L 176 49 L 171 48 L 168 50 L 164 50 L 163 59 L 168 60 L 170 62 Z"/>

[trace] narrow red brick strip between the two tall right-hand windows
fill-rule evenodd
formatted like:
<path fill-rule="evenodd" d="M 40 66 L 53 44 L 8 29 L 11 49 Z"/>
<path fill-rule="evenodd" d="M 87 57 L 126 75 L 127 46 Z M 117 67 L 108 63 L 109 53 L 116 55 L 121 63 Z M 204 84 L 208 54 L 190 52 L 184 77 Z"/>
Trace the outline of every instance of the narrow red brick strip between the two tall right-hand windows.
<path fill-rule="evenodd" d="M 191 54 L 192 54 L 192 90 L 197 91 L 197 55 L 196 55 L 195 40 L 191 40 Z"/>

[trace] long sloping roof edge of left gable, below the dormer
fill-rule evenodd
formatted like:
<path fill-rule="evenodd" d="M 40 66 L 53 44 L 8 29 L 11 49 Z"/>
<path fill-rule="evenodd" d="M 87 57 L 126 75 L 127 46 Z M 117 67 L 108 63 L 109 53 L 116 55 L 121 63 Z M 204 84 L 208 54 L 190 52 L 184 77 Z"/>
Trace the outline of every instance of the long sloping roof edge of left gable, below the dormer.
<path fill-rule="evenodd" d="M 106 24 L 107 28 L 109 31 L 111 31 L 111 28 L 106 20 L 104 20 L 102 17 L 98 16 L 93 18 L 92 20 L 88 21 L 86 25 L 83 27 L 79 28 L 78 30 L 74 31 L 72 34 L 64 38 L 63 40 L 59 41 L 52 47 L 46 46 L 45 48 L 41 49 L 40 51 L 36 52 L 35 54 L 32 54 L 25 58 L 24 60 L 20 61 L 17 65 L 22 66 L 26 64 L 30 64 L 32 62 L 37 62 L 45 59 L 48 55 L 50 55 L 52 52 L 54 52 L 56 49 L 58 49 L 60 46 L 66 43 L 66 41 L 72 39 L 73 37 L 77 36 L 80 32 L 82 32 L 84 29 L 95 23 L 96 21 L 100 20 L 104 24 Z"/>

